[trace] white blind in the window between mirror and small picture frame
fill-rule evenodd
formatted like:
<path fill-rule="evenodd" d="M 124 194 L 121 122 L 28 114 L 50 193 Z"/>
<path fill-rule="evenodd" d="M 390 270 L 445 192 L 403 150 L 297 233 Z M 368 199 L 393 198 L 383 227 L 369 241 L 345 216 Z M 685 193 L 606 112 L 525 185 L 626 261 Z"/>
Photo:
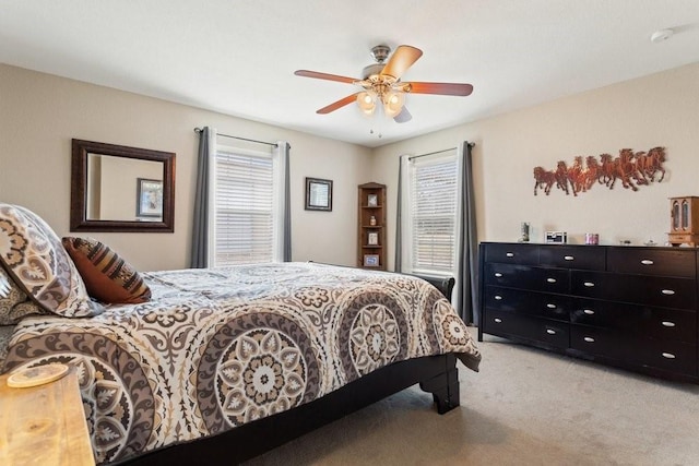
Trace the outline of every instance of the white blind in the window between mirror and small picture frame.
<path fill-rule="evenodd" d="M 216 152 L 214 266 L 273 262 L 272 155 Z"/>

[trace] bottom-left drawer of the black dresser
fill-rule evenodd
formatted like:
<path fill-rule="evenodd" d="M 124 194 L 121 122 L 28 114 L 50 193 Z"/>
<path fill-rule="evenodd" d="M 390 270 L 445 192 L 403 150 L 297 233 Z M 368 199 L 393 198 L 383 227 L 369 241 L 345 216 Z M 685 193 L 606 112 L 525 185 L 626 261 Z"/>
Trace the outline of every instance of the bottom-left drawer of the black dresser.
<path fill-rule="evenodd" d="M 555 348 L 567 348 L 570 343 L 567 323 L 502 311 L 487 310 L 483 319 L 483 331 L 491 335 L 537 342 Z"/>

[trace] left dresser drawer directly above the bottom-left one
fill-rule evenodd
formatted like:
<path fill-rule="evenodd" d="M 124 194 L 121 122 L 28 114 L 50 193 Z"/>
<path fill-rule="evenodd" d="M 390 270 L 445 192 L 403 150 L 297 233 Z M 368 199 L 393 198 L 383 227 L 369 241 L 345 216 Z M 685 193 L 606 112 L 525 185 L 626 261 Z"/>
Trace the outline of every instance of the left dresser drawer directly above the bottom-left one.
<path fill-rule="evenodd" d="M 512 288 L 486 287 L 485 307 L 498 311 L 538 315 L 568 322 L 570 298 Z"/>

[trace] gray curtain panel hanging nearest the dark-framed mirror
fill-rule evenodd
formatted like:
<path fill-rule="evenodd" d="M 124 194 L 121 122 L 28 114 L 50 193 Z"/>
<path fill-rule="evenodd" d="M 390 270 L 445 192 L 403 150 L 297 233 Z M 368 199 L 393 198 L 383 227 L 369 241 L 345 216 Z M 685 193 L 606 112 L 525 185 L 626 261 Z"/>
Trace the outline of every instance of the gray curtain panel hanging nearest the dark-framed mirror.
<path fill-rule="evenodd" d="M 215 131 L 213 131 L 215 134 Z M 192 226 L 192 252 L 190 267 L 209 266 L 209 164 L 212 147 L 212 130 L 204 127 L 199 132 L 199 159 L 197 164 L 197 187 L 194 192 L 194 218 Z"/>

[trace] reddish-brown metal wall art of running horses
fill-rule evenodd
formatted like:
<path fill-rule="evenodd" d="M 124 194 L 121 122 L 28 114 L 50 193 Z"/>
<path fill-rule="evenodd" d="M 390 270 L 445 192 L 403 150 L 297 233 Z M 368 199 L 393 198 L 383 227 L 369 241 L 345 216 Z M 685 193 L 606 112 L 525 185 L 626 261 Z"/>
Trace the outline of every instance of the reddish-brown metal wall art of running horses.
<path fill-rule="evenodd" d="M 584 167 L 582 160 L 581 155 L 574 157 L 570 167 L 560 160 L 555 170 L 534 167 L 534 195 L 540 189 L 548 195 L 554 186 L 566 194 L 572 191 L 572 195 L 587 192 L 595 182 L 614 189 L 617 180 L 624 188 L 638 191 L 639 186 L 654 182 L 657 174 L 657 182 L 665 178 L 665 147 L 653 147 L 648 153 L 623 148 L 617 157 L 602 154 L 600 160 L 590 155 L 585 158 Z"/>

